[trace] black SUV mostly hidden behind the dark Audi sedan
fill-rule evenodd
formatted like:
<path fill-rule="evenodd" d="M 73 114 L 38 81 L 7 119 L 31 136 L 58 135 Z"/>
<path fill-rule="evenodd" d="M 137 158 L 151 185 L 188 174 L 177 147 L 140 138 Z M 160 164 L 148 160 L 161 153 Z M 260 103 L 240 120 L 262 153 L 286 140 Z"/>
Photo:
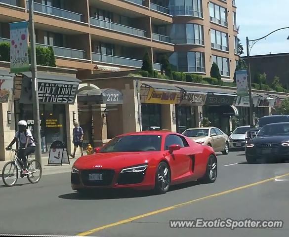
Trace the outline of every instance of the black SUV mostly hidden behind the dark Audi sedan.
<path fill-rule="evenodd" d="M 246 132 L 245 140 L 248 141 L 254 138 L 257 132 L 266 124 L 276 122 L 289 122 L 289 115 L 271 115 L 260 118 L 255 127 L 250 128 L 250 130 Z"/>

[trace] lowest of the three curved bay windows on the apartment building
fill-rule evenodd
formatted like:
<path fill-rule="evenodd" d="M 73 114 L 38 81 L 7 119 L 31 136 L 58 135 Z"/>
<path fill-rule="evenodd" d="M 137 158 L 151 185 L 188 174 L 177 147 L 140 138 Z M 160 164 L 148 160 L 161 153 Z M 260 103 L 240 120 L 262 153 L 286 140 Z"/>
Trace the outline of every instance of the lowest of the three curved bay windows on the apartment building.
<path fill-rule="evenodd" d="M 169 61 L 179 72 L 205 73 L 205 54 L 202 52 L 174 52 Z"/>

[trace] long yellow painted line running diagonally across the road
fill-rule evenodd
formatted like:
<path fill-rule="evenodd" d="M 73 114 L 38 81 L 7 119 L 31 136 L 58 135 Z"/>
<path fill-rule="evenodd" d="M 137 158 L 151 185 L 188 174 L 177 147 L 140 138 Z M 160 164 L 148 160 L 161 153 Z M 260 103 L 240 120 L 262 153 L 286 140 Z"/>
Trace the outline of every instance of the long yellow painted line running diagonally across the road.
<path fill-rule="evenodd" d="M 88 235 L 90 235 L 90 234 L 92 234 L 94 232 L 100 231 L 100 230 L 104 230 L 104 229 L 107 229 L 107 228 L 110 228 L 110 227 L 114 227 L 114 226 L 118 226 L 118 225 L 121 225 L 121 224 L 125 224 L 125 223 L 131 222 L 131 221 L 135 221 L 135 220 L 147 217 L 147 216 L 152 216 L 152 215 L 155 215 L 155 214 L 158 214 L 158 213 L 162 213 L 162 212 L 165 212 L 165 211 L 168 211 L 168 210 L 175 209 L 177 207 L 181 207 L 181 206 L 184 206 L 184 205 L 191 204 L 191 203 L 196 202 L 196 201 L 201 201 L 201 200 L 204 200 L 204 199 L 207 199 L 207 198 L 210 198 L 210 197 L 218 197 L 218 196 L 222 196 L 222 195 L 225 195 L 225 194 L 230 194 L 230 193 L 236 192 L 238 190 L 247 189 L 247 188 L 259 185 L 259 184 L 264 184 L 264 183 L 267 183 L 267 182 L 270 182 L 270 181 L 274 181 L 275 179 L 280 179 L 280 178 L 283 178 L 283 177 L 288 176 L 288 175 L 289 175 L 289 173 L 286 173 L 286 174 L 283 174 L 283 175 L 275 176 L 275 177 L 269 178 L 269 179 L 264 179 L 264 180 L 261 180 L 261 181 L 258 181 L 258 182 L 252 183 L 252 184 L 248 184 L 248 185 L 245 185 L 245 186 L 241 186 L 241 187 L 238 187 L 238 188 L 226 190 L 226 191 L 223 191 L 223 192 L 220 192 L 220 193 L 216 193 L 216 194 L 208 195 L 208 196 L 205 196 L 205 197 L 200 197 L 200 198 L 197 198 L 197 199 L 186 201 L 186 202 L 183 202 L 183 203 L 179 203 L 179 204 L 176 204 L 176 205 L 168 206 L 168 207 L 156 210 L 156 211 L 151 211 L 151 212 L 148 212 L 148 213 L 145 213 L 145 214 L 142 214 L 142 215 L 138 215 L 138 216 L 134 216 L 134 217 L 131 217 L 131 218 L 127 218 L 127 219 L 124 219 L 124 220 L 121 220 L 121 221 L 118 221 L 118 222 L 114 222 L 114 223 L 111 223 L 111 224 L 108 224 L 108 225 L 105 225 L 105 226 L 97 227 L 95 229 L 79 233 L 78 236 L 88 236 Z"/>

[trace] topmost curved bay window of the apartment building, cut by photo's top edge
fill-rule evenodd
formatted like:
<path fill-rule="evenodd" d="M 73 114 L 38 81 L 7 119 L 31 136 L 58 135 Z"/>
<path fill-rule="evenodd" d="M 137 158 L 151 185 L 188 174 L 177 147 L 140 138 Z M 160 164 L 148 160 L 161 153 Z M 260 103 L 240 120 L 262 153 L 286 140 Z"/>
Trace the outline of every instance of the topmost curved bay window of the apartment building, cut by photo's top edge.
<path fill-rule="evenodd" d="M 170 0 L 169 11 L 173 16 L 203 17 L 202 0 Z"/>

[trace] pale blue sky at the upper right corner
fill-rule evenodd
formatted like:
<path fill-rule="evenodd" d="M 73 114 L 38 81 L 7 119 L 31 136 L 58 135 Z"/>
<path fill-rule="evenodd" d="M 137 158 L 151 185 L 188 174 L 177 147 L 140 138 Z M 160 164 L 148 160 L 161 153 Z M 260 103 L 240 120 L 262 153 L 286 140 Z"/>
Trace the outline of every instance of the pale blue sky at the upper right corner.
<path fill-rule="evenodd" d="M 283 27 L 289 27 L 289 0 L 236 0 L 239 39 L 246 56 L 246 37 L 255 40 Z M 289 29 L 281 30 L 258 41 L 250 55 L 289 52 Z"/>

